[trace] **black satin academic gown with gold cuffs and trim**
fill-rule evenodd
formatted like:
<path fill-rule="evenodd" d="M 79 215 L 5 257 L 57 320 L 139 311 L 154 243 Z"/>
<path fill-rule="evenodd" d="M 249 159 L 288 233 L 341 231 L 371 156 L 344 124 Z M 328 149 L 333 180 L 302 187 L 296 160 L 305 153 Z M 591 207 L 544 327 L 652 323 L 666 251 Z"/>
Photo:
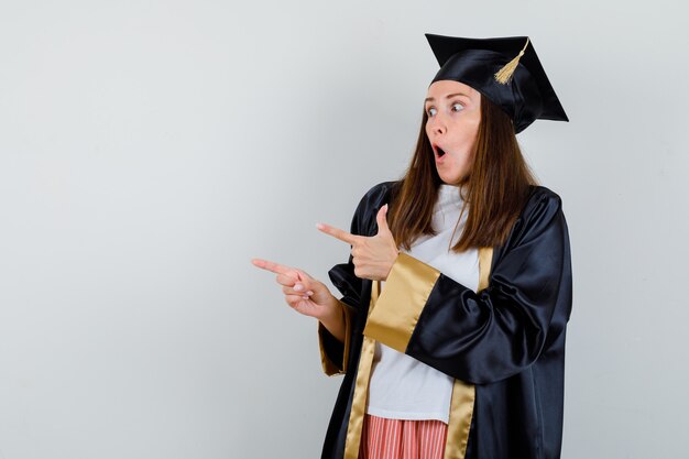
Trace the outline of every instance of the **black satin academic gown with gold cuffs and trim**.
<path fill-rule="evenodd" d="M 351 233 L 374 236 L 398 183 L 361 199 Z M 358 457 L 373 346 L 380 341 L 452 378 L 445 459 L 560 457 L 565 335 L 572 300 L 560 197 L 532 186 L 504 244 L 480 248 L 478 291 L 400 253 L 380 282 L 349 262 L 328 275 L 343 295 L 346 342 L 318 323 L 324 372 L 343 374 L 322 459 Z"/>

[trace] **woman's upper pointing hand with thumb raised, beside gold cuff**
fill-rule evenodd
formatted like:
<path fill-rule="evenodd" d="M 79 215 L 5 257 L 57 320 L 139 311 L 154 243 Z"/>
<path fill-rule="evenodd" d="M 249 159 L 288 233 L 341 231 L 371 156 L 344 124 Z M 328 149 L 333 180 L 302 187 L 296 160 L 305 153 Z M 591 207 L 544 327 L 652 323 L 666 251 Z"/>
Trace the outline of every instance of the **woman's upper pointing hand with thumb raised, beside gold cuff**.
<path fill-rule="evenodd" d="M 329 225 L 318 223 L 316 227 L 340 241 L 352 247 L 352 262 L 354 263 L 354 275 L 360 278 L 371 281 L 386 281 L 392 265 L 397 259 L 400 251 L 395 239 L 387 227 L 387 205 L 378 211 L 378 234 L 373 237 L 357 236 Z"/>

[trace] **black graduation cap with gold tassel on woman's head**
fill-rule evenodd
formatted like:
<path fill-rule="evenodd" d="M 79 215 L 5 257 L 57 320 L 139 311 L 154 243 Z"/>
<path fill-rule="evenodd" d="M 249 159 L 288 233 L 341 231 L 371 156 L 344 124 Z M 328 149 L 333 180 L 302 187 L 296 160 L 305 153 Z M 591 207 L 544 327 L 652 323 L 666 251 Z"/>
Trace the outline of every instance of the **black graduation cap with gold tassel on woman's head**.
<path fill-rule="evenodd" d="M 536 119 L 569 121 L 526 36 L 460 39 L 426 34 L 440 70 L 434 81 L 471 86 L 502 108 L 515 133 Z"/>

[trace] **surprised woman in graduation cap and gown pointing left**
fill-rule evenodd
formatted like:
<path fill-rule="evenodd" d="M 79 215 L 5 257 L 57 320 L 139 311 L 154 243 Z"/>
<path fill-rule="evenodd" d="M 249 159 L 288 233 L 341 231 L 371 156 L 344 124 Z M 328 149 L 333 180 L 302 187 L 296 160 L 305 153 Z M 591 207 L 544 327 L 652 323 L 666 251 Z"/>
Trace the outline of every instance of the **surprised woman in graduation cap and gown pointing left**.
<path fill-rule="evenodd" d="M 363 196 L 350 232 L 319 225 L 352 247 L 329 271 L 342 298 L 253 263 L 344 374 L 322 458 L 558 458 L 569 237 L 515 134 L 567 116 L 526 37 L 426 36 L 441 68 L 406 174 Z"/>

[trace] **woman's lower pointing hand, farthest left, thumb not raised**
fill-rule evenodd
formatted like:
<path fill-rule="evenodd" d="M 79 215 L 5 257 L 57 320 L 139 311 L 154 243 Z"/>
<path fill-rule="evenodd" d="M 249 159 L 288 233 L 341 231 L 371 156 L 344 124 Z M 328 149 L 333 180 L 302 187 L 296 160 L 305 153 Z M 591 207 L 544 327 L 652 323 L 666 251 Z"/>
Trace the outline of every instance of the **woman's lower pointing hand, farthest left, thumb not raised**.
<path fill-rule="evenodd" d="M 277 274 L 276 281 L 283 286 L 285 300 L 297 313 L 319 320 L 339 314 L 338 299 L 322 282 L 306 272 L 262 259 L 252 259 L 251 263 Z"/>

